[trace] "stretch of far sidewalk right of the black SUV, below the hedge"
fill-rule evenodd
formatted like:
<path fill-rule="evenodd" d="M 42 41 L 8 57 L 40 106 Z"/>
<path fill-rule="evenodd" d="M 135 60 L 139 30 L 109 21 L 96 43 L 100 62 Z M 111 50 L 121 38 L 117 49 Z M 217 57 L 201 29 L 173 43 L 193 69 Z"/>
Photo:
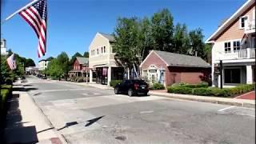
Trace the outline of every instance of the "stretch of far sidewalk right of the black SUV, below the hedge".
<path fill-rule="evenodd" d="M 197 96 L 197 95 L 189 95 L 189 94 L 171 94 L 171 93 L 167 93 L 166 90 L 150 90 L 149 94 L 158 95 L 166 98 L 178 98 L 178 99 L 184 99 L 184 100 L 190 100 L 190 101 L 210 102 L 210 103 L 217 103 L 217 104 L 223 104 L 223 105 L 255 108 L 255 101 L 248 100 L 248 99 L 219 98 L 219 97 Z"/>

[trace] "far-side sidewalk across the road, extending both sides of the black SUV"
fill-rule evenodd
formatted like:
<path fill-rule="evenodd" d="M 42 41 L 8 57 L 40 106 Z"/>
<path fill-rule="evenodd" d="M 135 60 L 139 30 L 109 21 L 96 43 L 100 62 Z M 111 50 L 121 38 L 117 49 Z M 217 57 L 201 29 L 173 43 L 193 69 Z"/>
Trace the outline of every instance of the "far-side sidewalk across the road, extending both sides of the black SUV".
<path fill-rule="evenodd" d="M 50 80 L 54 82 L 65 82 L 65 81 L 56 81 Z M 113 90 L 113 87 L 96 84 L 96 83 L 87 83 L 87 82 L 66 82 L 80 86 L 92 86 L 99 89 L 109 89 Z M 238 98 L 219 98 L 219 97 L 209 97 L 209 96 L 197 96 L 197 95 L 189 95 L 189 94 L 171 94 L 167 93 L 166 90 L 150 90 L 150 95 L 157 95 L 166 98 L 178 98 L 190 101 L 198 101 L 198 102 L 210 102 L 210 103 L 217 103 L 223 105 L 230 105 L 230 106 L 243 106 L 249 108 L 255 108 L 255 101 L 248 100 L 248 99 L 238 99 Z"/>

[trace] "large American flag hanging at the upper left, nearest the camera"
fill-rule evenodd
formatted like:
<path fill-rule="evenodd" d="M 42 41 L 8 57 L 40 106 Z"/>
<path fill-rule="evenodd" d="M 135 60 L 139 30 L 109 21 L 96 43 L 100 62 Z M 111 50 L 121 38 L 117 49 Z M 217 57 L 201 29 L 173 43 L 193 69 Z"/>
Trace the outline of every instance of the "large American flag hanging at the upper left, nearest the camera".
<path fill-rule="evenodd" d="M 39 0 L 32 6 L 19 12 L 22 18 L 30 24 L 38 36 L 38 58 L 46 53 L 46 22 L 47 22 L 47 2 Z"/>

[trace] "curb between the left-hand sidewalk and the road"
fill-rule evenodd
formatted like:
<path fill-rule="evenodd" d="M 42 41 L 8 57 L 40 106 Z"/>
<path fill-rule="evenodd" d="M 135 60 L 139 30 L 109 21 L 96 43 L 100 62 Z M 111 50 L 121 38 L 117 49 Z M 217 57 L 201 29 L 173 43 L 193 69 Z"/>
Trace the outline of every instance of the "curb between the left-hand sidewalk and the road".
<path fill-rule="evenodd" d="M 22 84 L 23 86 L 23 84 Z M 24 86 L 23 86 L 24 87 Z M 32 95 L 30 95 L 30 93 L 26 92 L 26 94 L 28 94 L 30 96 L 30 99 L 32 100 L 32 102 L 34 102 L 34 105 L 38 107 L 39 113 L 43 116 L 45 122 L 51 127 L 53 128 L 52 130 L 54 130 L 54 133 L 58 136 L 58 138 L 61 140 L 62 144 L 68 144 L 69 142 L 66 140 L 66 138 L 62 135 L 59 134 L 58 131 L 55 129 L 55 127 L 53 126 L 53 124 L 50 122 L 50 119 L 46 116 L 46 114 L 43 113 L 42 109 L 40 108 L 40 106 L 38 106 L 37 102 L 34 101 L 34 98 L 32 97 Z"/>

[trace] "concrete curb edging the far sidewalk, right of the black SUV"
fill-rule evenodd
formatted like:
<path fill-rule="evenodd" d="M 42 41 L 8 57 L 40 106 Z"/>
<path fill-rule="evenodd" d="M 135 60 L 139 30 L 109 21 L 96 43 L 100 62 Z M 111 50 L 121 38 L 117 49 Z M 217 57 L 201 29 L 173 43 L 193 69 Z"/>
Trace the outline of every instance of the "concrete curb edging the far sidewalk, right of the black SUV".
<path fill-rule="evenodd" d="M 229 106 L 242 106 L 247 108 L 255 108 L 255 104 L 252 103 L 246 103 L 246 102 L 227 102 L 227 101 L 221 101 L 216 99 L 210 99 L 209 97 L 206 98 L 196 98 L 197 96 L 190 96 L 191 98 L 182 97 L 188 96 L 186 94 L 177 94 L 177 96 L 172 94 L 158 94 L 154 92 L 149 92 L 149 94 L 157 95 L 160 97 L 165 98 L 176 98 L 176 99 L 182 99 L 182 100 L 189 100 L 189 101 L 196 101 L 196 102 L 209 102 L 209 103 L 216 103 L 216 104 L 222 104 L 222 105 L 229 105 Z"/>

